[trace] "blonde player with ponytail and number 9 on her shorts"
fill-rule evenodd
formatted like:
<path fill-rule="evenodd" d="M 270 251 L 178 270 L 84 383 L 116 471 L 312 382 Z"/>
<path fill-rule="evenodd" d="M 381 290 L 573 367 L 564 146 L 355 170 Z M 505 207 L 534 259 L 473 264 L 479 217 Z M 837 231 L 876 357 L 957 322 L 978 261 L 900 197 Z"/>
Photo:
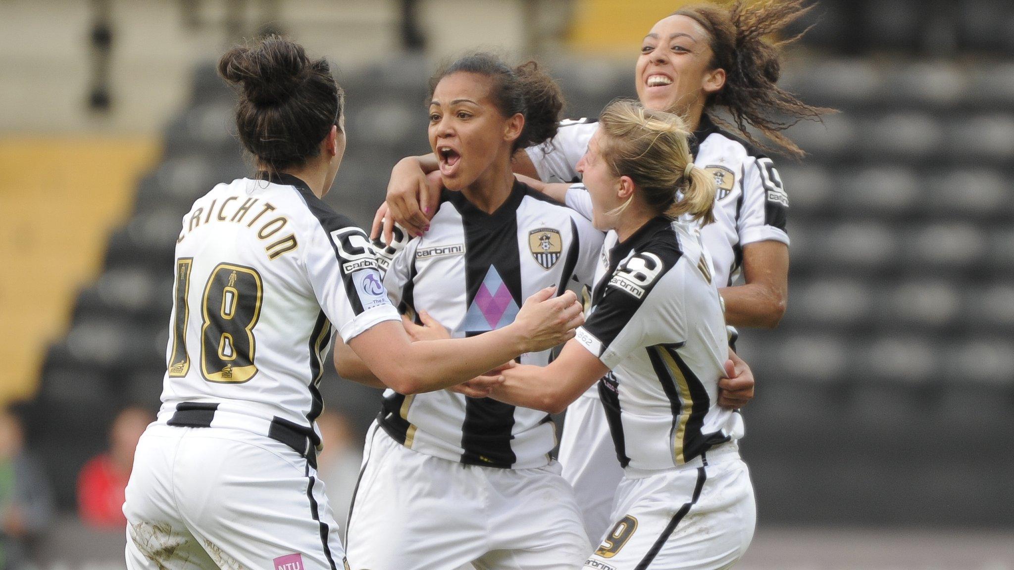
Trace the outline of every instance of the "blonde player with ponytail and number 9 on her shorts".
<path fill-rule="evenodd" d="M 728 568 L 753 535 L 742 420 L 716 402 L 722 303 L 694 223 L 711 221 L 715 184 L 689 136 L 635 102 L 602 112 L 578 162 L 595 227 L 609 230 L 587 320 L 551 364 L 505 370 L 492 393 L 556 413 L 598 380 L 625 475 L 586 568 Z"/>

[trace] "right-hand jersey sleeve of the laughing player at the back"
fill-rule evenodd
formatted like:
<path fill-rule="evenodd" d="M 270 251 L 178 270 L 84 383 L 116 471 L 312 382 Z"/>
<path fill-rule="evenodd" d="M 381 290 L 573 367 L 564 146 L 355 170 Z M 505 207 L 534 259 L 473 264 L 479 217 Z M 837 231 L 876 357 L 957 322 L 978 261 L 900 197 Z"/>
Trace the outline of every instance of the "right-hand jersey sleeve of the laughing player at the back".
<path fill-rule="evenodd" d="M 789 197 L 782 176 L 767 156 L 747 160 L 743 171 L 743 204 L 737 221 L 739 243 L 775 240 L 788 245 L 785 222 Z"/>

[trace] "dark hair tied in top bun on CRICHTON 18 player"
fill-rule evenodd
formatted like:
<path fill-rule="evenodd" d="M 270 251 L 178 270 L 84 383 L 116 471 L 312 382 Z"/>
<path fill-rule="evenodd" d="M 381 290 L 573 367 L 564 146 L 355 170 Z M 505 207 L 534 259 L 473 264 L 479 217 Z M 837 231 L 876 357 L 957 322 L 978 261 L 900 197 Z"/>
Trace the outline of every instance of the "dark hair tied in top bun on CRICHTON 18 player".
<path fill-rule="evenodd" d="M 342 88 L 328 61 L 310 60 L 302 46 L 269 35 L 252 48 L 229 50 L 218 73 L 241 86 L 239 139 L 262 167 L 281 169 L 316 156 L 342 115 Z"/>

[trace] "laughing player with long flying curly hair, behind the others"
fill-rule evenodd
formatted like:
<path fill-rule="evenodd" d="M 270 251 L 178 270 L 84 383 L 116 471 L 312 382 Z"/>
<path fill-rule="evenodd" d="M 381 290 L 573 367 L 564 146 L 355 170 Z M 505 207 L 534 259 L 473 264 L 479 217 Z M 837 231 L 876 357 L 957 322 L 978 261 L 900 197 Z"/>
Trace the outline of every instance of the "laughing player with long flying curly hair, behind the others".
<path fill-rule="evenodd" d="M 800 149 L 782 134 L 792 122 L 780 117 L 795 121 L 827 111 L 807 105 L 778 87 L 778 45 L 764 40 L 807 10 L 802 0 L 684 7 L 651 28 L 635 70 L 641 102 L 683 118 L 694 131 L 691 151 L 696 164 L 715 179 L 716 223 L 701 232 L 715 264 L 726 322 L 733 327 L 773 328 L 787 303 L 788 199 L 774 163 L 751 144 L 757 141 L 745 127 L 756 127 L 781 150 L 798 156 Z M 715 117 L 723 110 L 746 141 L 719 128 Z M 552 141 L 515 156 L 515 171 L 548 183 L 577 181 L 577 162 L 595 128 L 594 122 L 563 123 Z M 423 196 L 422 203 L 432 203 L 433 198 L 432 193 L 419 190 L 421 166 L 434 168 L 435 160 L 410 157 L 395 166 L 386 202 L 391 211 L 388 225 L 396 220 L 410 232 L 422 230 L 426 216 L 419 211 L 417 194 Z M 528 182 L 558 201 L 588 210 L 587 193 L 579 187 Z M 378 212 L 374 232 L 383 214 Z M 741 285 L 736 284 L 740 276 Z M 752 390 L 752 384 L 723 379 L 719 403 L 740 407 Z M 597 540 L 607 524 L 609 490 L 615 488 L 622 472 L 604 462 L 612 450 L 597 393 L 589 390 L 585 396 L 567 411 L 560 461 L 564 477 L 575 488 L 588 536 Z"/>

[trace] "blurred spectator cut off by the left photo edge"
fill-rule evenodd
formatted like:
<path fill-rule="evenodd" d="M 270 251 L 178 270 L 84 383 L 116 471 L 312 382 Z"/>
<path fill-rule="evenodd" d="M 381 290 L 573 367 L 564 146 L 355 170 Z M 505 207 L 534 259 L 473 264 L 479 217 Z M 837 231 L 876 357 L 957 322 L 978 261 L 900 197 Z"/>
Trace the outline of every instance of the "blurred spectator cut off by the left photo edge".
<path fill-rule="evenodd" d="M 0 411 L 0 568 L 27 566 L 28 543 L 52 515 L 49 482 L 24 450 L 21 422 L 11 411 Z"/>

